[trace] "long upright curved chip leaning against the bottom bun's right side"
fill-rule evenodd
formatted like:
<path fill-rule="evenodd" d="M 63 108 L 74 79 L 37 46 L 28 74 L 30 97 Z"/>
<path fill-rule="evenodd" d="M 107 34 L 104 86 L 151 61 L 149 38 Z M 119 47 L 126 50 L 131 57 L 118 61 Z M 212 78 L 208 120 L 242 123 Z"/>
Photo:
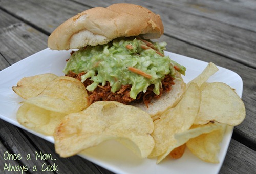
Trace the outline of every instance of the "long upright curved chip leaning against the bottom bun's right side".
<path fill-rule="evenodd" d="M 160 119 L 154 121 L 155 129 L 152 137 L 155 140 L 155 147 L 150 157 L 160 156 L 170 147 L 174 149 L 182 145 L 177 145 L 174 135 L 185 132 L 193 125 L 199 110 L 200 99 L 201 92 L 198 86 L 190 83 L 180 102 L 174 108 L 164 112 Z"/>

